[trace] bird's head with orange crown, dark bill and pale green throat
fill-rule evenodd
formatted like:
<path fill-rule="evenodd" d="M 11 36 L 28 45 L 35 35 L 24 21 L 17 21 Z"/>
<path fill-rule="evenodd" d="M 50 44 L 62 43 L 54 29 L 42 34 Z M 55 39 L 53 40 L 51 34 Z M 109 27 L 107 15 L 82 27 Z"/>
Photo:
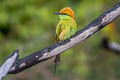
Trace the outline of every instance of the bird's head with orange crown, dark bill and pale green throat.
<path fill-rule="evenodd" d="M 74 19 L 74 12 L 69 7 L 65 7 L 61 9 L 60 12 L 56 12 L 55 14 L 59 15 L 60 19 Z"/>

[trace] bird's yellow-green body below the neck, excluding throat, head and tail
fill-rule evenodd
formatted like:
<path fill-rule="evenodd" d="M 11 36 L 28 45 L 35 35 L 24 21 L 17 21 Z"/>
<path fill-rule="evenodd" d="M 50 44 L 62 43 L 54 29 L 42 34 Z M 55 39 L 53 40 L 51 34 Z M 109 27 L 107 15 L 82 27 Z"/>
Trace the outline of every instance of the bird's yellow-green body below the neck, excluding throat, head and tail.
<path fill-rule="evenodd" d="M 59 22 L 56 28 L 56 42 L 69 38 L 76 32 L 76 23 Z"/>

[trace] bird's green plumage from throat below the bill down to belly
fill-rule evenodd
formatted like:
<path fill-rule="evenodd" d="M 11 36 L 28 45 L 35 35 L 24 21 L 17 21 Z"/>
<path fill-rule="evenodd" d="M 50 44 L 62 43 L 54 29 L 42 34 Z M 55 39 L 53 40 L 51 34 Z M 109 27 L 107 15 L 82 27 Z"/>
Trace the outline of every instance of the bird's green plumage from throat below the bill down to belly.
<path fill-rule="evenodd" d="M 72 36 L 76 32 L 76 22 L 69 15 L 59 15 L 60 22 L 56 28 L 56 42 Z"/>

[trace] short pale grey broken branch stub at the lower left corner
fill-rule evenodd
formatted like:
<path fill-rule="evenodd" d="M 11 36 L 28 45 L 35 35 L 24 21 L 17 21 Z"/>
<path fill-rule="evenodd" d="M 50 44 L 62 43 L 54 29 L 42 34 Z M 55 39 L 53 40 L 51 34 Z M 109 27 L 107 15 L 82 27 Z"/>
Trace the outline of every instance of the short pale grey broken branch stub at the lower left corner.
<path fill-rule="evenodd" d="M 12 67 L 14 62 L 18 58 L 18 50 L 15 50 L 5 61 L 5 63 L 0 67 L 0 80 L 8 73 L 9 69 Z"/>

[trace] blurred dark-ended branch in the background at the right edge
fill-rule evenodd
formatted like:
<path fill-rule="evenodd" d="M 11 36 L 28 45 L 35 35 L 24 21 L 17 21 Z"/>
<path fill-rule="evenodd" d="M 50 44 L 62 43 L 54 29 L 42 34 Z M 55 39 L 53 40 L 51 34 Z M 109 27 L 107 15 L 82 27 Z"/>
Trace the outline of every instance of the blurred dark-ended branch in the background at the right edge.
<path fill-rule="evenodd" d="M 120 44 L 115 42 L 110 42 L 109 39 L 104 38 L 102 41 L 102 47 L 110 51 L 120 54 Z"/>

